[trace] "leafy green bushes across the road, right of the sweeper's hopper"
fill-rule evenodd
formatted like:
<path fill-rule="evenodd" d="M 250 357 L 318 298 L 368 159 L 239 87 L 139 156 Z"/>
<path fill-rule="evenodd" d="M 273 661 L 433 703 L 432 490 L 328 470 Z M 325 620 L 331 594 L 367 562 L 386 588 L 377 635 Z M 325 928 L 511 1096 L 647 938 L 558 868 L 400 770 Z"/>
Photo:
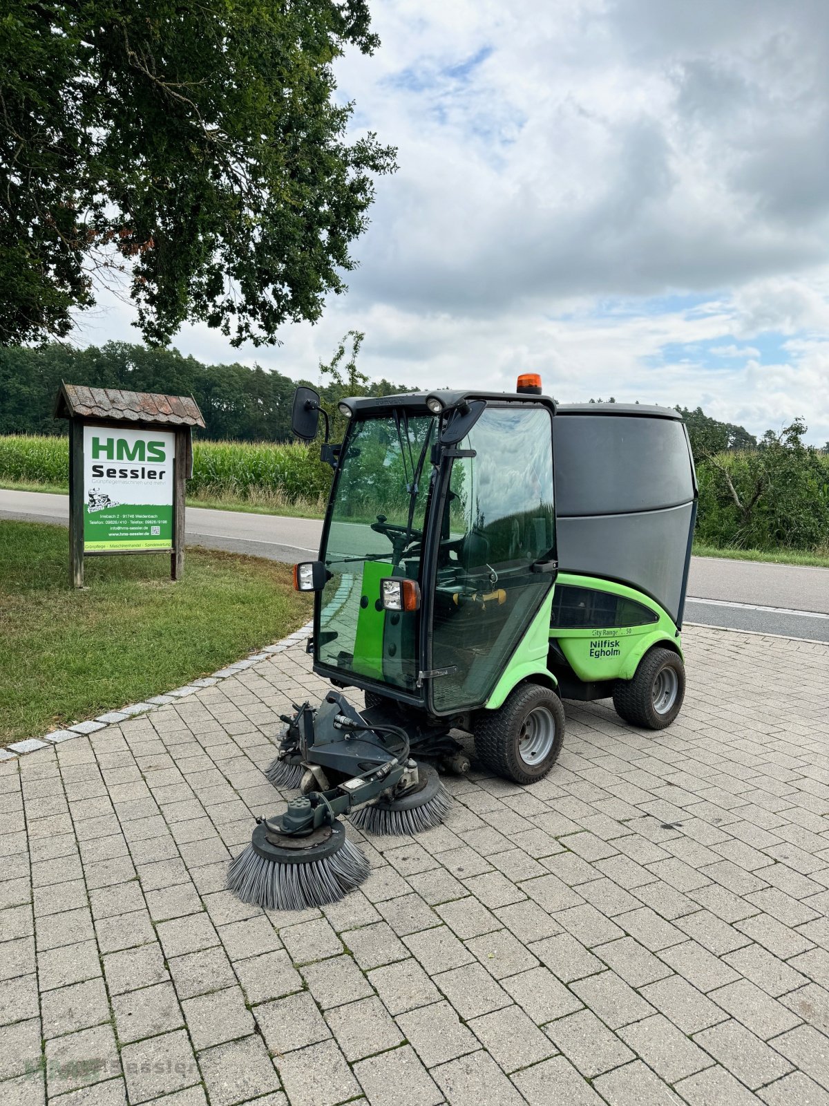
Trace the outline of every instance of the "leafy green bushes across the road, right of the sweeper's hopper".
<path fill-rule="evenodd" d="M 697 461 L 696 539 L 756 550 L 829 549 L 829 458 L 805 446 L 796 420 L 760 448 L 705 455 Z"/>

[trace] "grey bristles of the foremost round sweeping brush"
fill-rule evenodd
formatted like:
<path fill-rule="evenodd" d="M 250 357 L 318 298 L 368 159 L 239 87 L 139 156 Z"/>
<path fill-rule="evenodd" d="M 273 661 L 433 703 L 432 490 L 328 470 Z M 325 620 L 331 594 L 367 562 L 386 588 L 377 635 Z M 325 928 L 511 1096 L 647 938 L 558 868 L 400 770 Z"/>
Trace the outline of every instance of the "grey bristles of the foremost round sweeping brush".
<path fill-rule="evenodd" d="M 371 870 L 338 822 L 332 827 L 332 836 L 337 838 L 335 851 L 312 859 L 315 851 L 311 848 L 308 859 L 290 863 L 262 855 L 258 848 L 258 845 L 262 848 L 260 830 L 261 826 L 256 826 L 251 844 L 230 862 L 228 868 L 228 890 L 249 906 L 261 906 L 265 910 L 326 906 L 359 887 Z"/>

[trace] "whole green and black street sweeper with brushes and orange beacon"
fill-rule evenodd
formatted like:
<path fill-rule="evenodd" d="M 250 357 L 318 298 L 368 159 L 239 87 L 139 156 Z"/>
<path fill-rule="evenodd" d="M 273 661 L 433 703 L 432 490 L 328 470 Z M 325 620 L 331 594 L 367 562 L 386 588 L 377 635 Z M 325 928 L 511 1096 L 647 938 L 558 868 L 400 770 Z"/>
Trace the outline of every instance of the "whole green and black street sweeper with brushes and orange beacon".
<path fill-rule="evenodd" d="M 368 834 L 442 822 L 439 771 L 470 768 L 451 731 L 473 737 L 487 772 L 528 784 L 562 749 L 563 698 L 612 699 L 655 730 L 685 687 L 696 482 L 675 411 L 557 406 L 534 375 L 512 394 L 339 411 L 332 445 L 318 395 L 296 392 L 295 434 L 313 440 L 323 414 L 334 466 L 319 557 L 294 568 L 332 690 L 285 716 L 266 774 L 298 794 L 231 862 L 228 886 L 271 908 L 335 901 L 366 878 L 344 816 Z"/>

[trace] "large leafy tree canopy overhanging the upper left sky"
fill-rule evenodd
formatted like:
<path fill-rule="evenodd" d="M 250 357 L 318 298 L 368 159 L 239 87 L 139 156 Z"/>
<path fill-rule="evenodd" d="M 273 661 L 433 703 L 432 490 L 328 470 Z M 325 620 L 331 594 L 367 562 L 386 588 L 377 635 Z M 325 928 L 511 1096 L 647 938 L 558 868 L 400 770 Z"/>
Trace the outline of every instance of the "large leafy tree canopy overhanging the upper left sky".
<path fill-rule="evenodd" d="M 318 319 L 395 168 L 334 97 L 334 60 L 377 44 L 367 0 L 7 0 L 0 343 L 67 334 L 118 271 L 151 344 Z"/>

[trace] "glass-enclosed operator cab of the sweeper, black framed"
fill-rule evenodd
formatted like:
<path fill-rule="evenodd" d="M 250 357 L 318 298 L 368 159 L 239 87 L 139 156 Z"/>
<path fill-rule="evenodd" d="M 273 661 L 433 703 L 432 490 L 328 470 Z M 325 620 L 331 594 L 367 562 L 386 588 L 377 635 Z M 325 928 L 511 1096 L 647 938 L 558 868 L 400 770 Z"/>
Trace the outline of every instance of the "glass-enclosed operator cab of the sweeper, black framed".
<path fill-rule="evenodd" d="M 314 668 L 436 718 L 473 710 L 553 587 L 555 404 L 436 392 L 346 410 Z"/>

